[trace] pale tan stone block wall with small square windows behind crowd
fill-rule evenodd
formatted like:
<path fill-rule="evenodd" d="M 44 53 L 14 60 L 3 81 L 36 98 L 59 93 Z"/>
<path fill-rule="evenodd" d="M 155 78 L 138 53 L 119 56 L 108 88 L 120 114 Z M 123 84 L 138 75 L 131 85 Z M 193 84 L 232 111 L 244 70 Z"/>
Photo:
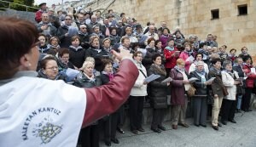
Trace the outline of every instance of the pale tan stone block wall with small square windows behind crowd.
<path fill-rule="evenodd" d="M 247 15 L 238 16 L 237 5 L 241 4 L 247 4 Z M 218 36 L 219 45 L 236 48 L 237 54 L 243 46 L 256 54 L 255 0 L 115 0 L 110 8 L 143 25 L 153 20 L 159 27 L 160 21 L 166 21 L 172 32 L 179 26 L 186 37 L 195 34 L 205 39 L 212 33 Z M 212 9 L 219 10 L 218 20 L 212 20 Z"/>

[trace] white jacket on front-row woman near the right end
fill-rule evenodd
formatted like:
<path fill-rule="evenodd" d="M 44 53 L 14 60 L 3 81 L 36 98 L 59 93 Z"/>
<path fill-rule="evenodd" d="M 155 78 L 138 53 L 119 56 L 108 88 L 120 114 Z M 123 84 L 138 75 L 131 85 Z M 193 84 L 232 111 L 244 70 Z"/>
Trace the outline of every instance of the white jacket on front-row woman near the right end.
<path fill-rule="evenodd" d="M 236 85 L 234 85 L 234 78 L 230 76 L 230 74 L 226 71 L 221 71 L 221 76 L 224 87 L 227 88 L 227 91 L 229 93 L 229 95 L 225 96 L 224 99 L 236 100 Z M 236 78 L 239 78 L 236 71 L 234 71 L 234 76 L 236 76 Z"/>

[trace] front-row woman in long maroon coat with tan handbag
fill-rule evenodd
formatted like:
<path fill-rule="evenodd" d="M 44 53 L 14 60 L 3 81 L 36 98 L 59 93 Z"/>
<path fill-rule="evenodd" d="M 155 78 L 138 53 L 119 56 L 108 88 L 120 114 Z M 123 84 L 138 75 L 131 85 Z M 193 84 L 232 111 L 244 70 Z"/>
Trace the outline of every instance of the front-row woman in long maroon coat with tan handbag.
<path fill-rule="evenodd" d="M 185 61 L 177 59 L 177 65 L 171 70 L 172 77 L 171 104 L 172 104 L 172 128 L 177 129 L 177 123 L 183 127 L 189 127 L 185 122 L 188 98 L 186 91 L 189 90 L 189 75 L 185 71 Z"/>

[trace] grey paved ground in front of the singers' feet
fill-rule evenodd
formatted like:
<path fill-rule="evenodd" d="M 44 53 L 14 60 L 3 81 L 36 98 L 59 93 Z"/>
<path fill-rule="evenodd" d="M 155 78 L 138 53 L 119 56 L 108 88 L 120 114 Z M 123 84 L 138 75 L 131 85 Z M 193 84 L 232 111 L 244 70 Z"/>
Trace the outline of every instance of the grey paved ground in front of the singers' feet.
<path fill-rule="evenodd" d="M 218 131 L 212 129 L 210 121 L 207 127 L 195 127 L 191 118 L 187 119 L 190 127 L 180 127 L 173 130 L 171 122 L 165 122 L 167 130 L 154 133 L 150 126 L 144 126 L 145 133 L 135 135 L 129 130 L 124 134 L 117 133 L 119 144 L 113 147 L 256 147 L 256 110 L 236 114 L 236 124 L 228 122 L 226 126 L 219 127 Z M 101 146 L 106 146 L 101 143 Z"/>

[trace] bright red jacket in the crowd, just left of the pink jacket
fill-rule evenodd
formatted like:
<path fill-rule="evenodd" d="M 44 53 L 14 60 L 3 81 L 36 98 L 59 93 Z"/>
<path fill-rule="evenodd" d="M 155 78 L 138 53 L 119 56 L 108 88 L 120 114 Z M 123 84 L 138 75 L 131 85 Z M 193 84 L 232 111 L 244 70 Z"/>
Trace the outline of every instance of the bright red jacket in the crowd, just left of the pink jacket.
<path fill-rule="evenodd" d="M 178 59 L 178 55 L 175 56 L 174 53 L 175 51 L 178 51 L 176 47 L 174 47 L 173 51 L 170 51 L 168 49 L 164 49 L 164 54 L 166 57 L 166 64 L 165 67 L 166 68 L 173 68 L 176 65 L 176 60 Z"/>

